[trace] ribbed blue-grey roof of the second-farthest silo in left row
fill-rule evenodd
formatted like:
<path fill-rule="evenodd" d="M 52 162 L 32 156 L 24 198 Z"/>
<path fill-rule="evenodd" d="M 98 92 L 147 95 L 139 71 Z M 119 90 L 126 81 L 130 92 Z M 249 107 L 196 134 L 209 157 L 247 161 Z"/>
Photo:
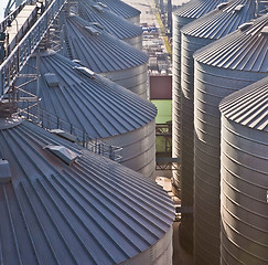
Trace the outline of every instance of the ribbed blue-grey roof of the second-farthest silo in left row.
<path fill-rule="evenodd" d="M 81 0 L 78 6 L 79 15 L 92 22 L 98 22 L 105 30 L 120 40 L 139 36 L 142 34 L 142 29 L 131 22 L 118 17 L 109 9 L 104 9 L 103 12 L 98 12 L 93 8 L 96 4 L 93 1 Z"/>

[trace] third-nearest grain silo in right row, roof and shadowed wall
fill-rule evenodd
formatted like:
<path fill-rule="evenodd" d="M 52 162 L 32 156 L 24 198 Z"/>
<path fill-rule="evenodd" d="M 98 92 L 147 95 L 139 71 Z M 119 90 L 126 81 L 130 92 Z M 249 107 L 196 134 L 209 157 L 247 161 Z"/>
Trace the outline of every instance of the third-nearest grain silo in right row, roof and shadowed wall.
<path fill-rule="evenodd" d="M 181 29 L 181 203 L 193 208 L 194 168 L 194 61 L 193 53 L 215 40 L 235 31 L 255 17 L 256 4 L 251 0 L 233 0 L 194 20 Z M 184 231 L 185 230 L 185 231 Z M 181 242 L 193 247 L 193 221 L 182 214 Z"/>

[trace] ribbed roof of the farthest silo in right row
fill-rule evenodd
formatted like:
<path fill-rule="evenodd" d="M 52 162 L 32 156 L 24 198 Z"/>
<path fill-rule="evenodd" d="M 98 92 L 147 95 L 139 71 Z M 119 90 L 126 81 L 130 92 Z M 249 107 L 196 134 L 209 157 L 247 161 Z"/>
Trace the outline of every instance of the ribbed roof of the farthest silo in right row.
<path fill-rule="evenodd" d="M 173 14 L 182 18 L 199 19 L 214 10 L 222 2 L 225 2 L 225 0 L 192 0 L 179 7 Z"/>

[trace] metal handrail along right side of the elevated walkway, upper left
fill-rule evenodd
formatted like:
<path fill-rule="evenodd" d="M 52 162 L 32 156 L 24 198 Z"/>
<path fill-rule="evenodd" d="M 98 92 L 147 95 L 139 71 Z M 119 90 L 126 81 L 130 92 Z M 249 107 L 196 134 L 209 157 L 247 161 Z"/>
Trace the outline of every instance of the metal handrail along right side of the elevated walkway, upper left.
<path fill-rule="evenodd" d="M 53 0 L 11 54 L 0 65 L 0 100 L 9 91 L 31 54 L 67 0 Z"/>

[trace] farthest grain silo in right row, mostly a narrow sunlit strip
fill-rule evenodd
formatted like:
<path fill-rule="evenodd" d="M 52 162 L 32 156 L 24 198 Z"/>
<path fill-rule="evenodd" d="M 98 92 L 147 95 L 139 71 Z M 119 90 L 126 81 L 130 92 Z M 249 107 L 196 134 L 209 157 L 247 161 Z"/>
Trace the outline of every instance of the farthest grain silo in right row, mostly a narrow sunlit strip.
<path fill-rule="evenodd" d="M 181 142 L 181 115 L 180 115 L 180 94 L 181 94 L 181 29 L 183 25 L 201 18 L 214 10 L 225 0 L 192 0 L 184 3 L 173 11 L 172 14 L 172 157 L 180 157 Z M 173 172 L 173 191 L 179 195 L 181 193 L 180 171 Z"/>

